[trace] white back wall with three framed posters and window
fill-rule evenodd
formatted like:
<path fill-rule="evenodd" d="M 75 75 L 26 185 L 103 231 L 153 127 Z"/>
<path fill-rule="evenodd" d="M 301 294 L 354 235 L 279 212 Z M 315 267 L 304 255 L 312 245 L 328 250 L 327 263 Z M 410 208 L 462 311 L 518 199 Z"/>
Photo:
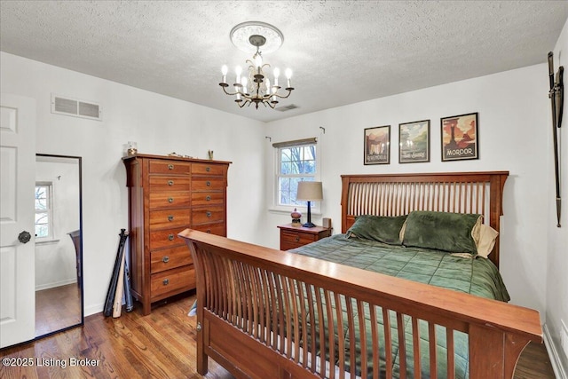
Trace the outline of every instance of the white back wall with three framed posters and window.
<path fill-rule="evenodd" d="M 543 58 L 544 59 L 544 58 Z M 513 304 L 544 320 L 548 220 L 548 82 L 542 64 L 383 99 L 270 122 L 272 142 L 319 137 L 323 217 L 341 232 L 341 174 L 509 170 L 501 229 L 501 273 Z M 478 112 L 479 159 L 441 162 L 440 118 Z M 430 119 L 430 162 L 398 163 L 398 123 Z M 363 164 L 363 130 L 390 125 L 390 164 Z M 325 134 L 319 130 L 325 128 Z M 264 145 L 265 186 L 272 187 L 273 152 Z M 267 199 L 267 206 L 272 199 Z M 289 214 L 267 213 L 265 244 L 278 246 L 276 225 Z M 316 223 L 320 219 L 316 218 Z"/>

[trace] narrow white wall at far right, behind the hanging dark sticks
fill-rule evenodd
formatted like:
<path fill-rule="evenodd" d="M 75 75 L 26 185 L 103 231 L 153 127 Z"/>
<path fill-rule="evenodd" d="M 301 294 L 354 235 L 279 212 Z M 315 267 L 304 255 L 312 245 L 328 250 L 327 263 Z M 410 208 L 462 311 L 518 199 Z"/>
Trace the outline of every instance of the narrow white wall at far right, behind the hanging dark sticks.
<path fill-rule="evenodd" d="M 555 72 L 558 67 L 568 69 L 568 20 L 558 38 L 554 50 Z M 564 74 L 564 91 L 568 77 Z M 548 105 L 548 109 L 551 106 Z M 554 155 L 552 153 L 552 122 L 551 112 L 548 110 L 548 140 L 547 140 L 547 183 L 548 183 L 548 270 L 547 270 L 547 328 L 549 336 L 554 343 L 557 357 L 564 364 L 564 375 L 568 374 L 568 357 L 562 351 L 560 344 L 561 321 L 568 327 L 568 97 L 564 94 L 564 121 L 562 128 L 557 130 L 558 139 L 561 142 L 560 152 L 560 193 L 563 198 L 563 211 L 561 218 L 562 227 L 556 227 L 556 186 L 554 173 Z M 568 343 L 568 341 L 566 342 Z"/>

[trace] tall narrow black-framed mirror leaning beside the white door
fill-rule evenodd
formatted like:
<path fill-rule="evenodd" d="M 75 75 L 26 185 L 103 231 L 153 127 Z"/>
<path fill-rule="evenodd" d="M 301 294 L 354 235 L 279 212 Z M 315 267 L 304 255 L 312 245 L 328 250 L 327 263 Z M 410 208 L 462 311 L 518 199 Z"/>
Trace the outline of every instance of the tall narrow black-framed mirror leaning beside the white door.
<path fill-rule="evenodd" d="M 81 157 L 36 154 L 36 337 L 83 325 Z"/>

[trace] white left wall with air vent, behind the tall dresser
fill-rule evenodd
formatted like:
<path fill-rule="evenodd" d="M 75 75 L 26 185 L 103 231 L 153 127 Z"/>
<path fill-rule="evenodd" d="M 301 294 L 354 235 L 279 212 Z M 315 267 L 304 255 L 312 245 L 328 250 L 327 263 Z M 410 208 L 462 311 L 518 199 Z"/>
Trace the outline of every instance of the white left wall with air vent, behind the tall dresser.
<path fill-rule="evenodd" d="M 83 157 L 85 314 L 100 312 L 121 228 L 128 229 L 128 193 L 121 158 L 128 141 L 144 154 L 231 161 L 228 235 L 255 241 L 260 228 L 264 123 L 153 92 L 0 52 L 3 92 L 36 99 L 37 153 Z M 217 85 L 212 81 L 211 85 Z M 51 114 L 51 93 L 98 102 L 103 121 Z M 252 201 L 247 201 L 252 199 Z M 245 222 L 246 220 L 246 222 Z"/>

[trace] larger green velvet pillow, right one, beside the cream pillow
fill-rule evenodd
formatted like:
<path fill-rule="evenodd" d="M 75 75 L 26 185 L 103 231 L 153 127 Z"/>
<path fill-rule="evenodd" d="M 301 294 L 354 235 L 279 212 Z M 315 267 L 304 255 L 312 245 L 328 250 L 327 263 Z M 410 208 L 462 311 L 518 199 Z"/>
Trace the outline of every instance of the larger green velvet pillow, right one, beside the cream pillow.
<path fill-rule="evenodd" d="M 481 215 L 414 210 L 406 218 L 402 244 L 451 253 L 477 254 L 474 228 Z"/>

